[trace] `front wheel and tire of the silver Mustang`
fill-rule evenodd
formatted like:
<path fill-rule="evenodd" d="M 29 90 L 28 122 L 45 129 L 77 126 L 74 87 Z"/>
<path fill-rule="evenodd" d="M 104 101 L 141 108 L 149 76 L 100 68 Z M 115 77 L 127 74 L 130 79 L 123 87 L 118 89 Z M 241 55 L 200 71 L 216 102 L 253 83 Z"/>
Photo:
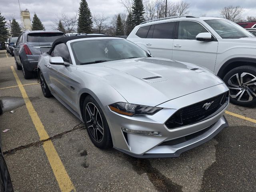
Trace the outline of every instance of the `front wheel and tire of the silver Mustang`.
<path fill-rule="evenodd" d="M 92 143 L 101 149 L 112 148 L 108 122 L 99 104 L 92 96 L 87 96 L 84 100 L 83 118 Z"/>

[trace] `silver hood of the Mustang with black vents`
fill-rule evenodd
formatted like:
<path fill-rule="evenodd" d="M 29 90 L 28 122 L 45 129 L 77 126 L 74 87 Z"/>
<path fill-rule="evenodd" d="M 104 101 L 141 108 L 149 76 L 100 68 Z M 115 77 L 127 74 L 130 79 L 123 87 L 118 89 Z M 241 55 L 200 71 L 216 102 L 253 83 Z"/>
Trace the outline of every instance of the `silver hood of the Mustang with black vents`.
<path fill-rule="evenodd" d="M 205 68 L 163 58 L 117 60 L 80 68 L 107 81 L 127 102 L 149 106 L 223 83 Z"/>

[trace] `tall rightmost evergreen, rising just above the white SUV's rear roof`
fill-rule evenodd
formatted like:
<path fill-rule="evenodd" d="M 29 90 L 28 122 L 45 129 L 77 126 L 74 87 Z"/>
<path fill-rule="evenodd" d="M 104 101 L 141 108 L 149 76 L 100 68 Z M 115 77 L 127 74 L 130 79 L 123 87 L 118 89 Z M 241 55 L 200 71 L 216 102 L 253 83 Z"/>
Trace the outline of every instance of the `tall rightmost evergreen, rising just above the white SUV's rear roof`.
<path fill-rule="evenodd" d="M 132 6 L 132 23 L 133 27 L 144 22 L 144 6 L 142 0 L 133 0 Z"/>

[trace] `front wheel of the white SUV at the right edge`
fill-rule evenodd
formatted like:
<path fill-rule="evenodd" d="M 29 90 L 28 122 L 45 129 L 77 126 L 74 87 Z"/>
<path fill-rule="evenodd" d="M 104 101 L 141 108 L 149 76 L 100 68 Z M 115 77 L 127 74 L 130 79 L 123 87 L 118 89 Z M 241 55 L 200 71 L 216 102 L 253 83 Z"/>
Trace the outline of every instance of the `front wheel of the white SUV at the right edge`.
<path fill-rule="evenodd" d="M 223 80 L 230 90 L 230 102 L 247 107 L 256 105 L 256 67 L 234 68 Z"/>

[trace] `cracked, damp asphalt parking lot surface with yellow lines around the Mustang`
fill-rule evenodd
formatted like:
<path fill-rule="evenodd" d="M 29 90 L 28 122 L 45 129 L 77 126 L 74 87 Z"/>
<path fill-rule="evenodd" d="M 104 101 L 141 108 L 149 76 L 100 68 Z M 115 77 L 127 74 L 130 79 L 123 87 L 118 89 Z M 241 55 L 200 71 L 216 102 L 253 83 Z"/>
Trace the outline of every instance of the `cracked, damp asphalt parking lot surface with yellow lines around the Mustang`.
<path fill-rule="evenodd" d="M 84 124 L 45 98 L 38 82 L 0 51 L 0 131 L 16 192 L 256 191 L 256 108 L 230 104 L 230 126 L 178 158 L 137 159 L 96 148 Z"/>

